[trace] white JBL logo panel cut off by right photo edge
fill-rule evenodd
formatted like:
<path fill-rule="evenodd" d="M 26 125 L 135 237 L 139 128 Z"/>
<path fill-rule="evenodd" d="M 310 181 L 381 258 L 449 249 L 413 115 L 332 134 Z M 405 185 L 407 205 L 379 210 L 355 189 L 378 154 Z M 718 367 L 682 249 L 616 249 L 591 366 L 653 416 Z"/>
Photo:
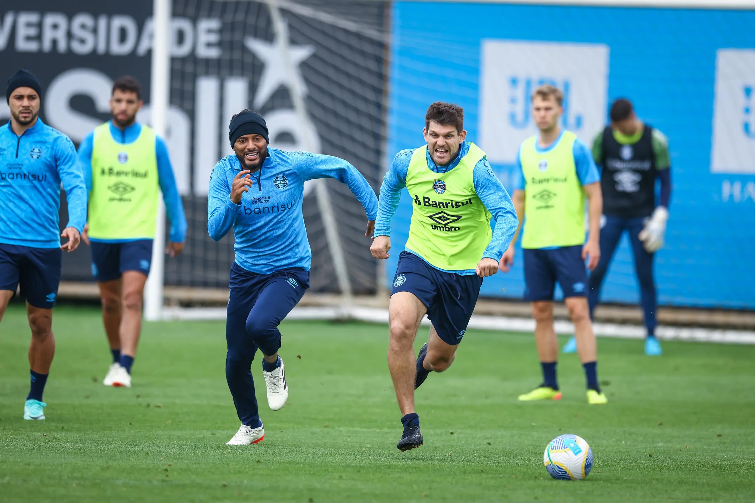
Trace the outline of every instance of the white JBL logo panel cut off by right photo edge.
<path fill-rule="evenodd" d="M 711 173 L 755 173 L 755 51 L 716 51 Z"/>

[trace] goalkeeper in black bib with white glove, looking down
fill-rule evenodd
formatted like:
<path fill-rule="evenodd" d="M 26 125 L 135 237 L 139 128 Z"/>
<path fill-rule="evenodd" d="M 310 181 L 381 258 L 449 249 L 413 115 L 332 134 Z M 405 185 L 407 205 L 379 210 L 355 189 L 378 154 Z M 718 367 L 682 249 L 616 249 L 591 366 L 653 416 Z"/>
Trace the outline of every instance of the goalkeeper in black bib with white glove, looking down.
<path fill-rule="evenodd" d="M 634 269 L 639 282 L 639 302 L 647 329 L 645 354 L 662 354 L 655 338 L 656 301 L 653 257 L 664 244 L 668 204 L 671 198 L 671 162 L 668 141 L 661 131 L 643 124 L 632 103 L 621 98 L 611 106 L 611 124 L 593 142 L 593 158 L 602 166 L 600 186 L 603 218 L 600 228 L 600 261 L 590 273 L 587 299 L 590 318 L 600 298 L 600 287 L 621 235 L 629 234 Z M 655 180 L 661 180 L 658 206 Z M 565 353 L 576 350 L 574 338 L 564 345 Z"/>

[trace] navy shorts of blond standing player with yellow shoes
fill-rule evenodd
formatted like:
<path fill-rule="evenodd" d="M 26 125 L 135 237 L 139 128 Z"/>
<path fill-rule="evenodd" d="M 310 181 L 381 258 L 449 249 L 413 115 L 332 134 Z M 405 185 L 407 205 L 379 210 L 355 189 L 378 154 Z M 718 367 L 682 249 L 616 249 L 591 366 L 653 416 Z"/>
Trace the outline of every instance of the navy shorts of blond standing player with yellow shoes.
<path fill-rule="evenodd" d="M 564 297 L 587 296 L 587 268 L 582 260 L 582 247 L 553 250 L 524 249 L 525 300 L 553 300 L 556 281 Z"/>

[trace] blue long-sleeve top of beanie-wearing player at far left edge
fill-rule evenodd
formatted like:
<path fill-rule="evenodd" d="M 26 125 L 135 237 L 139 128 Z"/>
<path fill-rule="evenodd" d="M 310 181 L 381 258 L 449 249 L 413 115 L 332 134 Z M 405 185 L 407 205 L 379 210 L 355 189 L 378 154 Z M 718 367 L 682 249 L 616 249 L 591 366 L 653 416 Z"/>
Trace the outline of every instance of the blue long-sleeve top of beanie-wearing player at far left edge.
<path fill-rule="evenodd" d="M 36 123 L 17 136 L 10 121 L 0 127 L 0 243 L 60 247 L 60 183 L 66 190 L 68 224 L 82 232 L 87 190 L 68 136 Z"/>

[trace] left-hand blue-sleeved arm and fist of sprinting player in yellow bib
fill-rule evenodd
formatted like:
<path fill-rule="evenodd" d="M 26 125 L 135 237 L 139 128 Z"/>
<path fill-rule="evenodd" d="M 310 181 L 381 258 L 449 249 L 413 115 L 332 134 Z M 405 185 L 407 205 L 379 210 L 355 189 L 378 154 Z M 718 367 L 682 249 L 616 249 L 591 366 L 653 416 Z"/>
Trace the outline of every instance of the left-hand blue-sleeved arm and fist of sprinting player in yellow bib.
<path fill-rule="evenodd" d="M 401 189 L 406 186 L 406 172 L 411 161 L 413 150 L 402 150 L 383 177 L 383 185 L 380 189 L 380 198 L 377 199 L 377 219 L 375 220 L 374 241 L 370 247 L 370 253 L 376 259 L 387 259 L 390 254 L 390 222 L 399 207 Z"/>

